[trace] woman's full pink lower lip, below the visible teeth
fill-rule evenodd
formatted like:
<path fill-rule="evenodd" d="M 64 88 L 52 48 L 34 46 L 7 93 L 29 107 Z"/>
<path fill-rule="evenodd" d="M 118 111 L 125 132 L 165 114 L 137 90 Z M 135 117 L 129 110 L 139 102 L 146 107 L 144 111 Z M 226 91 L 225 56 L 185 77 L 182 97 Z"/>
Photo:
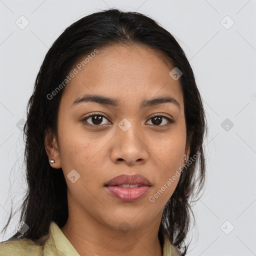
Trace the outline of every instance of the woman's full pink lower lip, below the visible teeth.
<path fill-rule="evenodd" d="M 136 201 L 144 196 L 149 190 L 150 186 L 138 186 L 133 188 L 124 188 L 120 186 L 106 186 L 110 194 L 125 202 Z"/>

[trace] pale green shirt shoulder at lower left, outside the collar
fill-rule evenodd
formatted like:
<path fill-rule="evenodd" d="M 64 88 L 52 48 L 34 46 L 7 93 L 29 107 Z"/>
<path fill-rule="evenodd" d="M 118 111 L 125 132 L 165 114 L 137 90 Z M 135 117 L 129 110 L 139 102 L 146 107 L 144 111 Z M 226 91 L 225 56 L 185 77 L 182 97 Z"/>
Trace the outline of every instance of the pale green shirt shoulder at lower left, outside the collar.
<path fill-rule="evenodd" d="M 40 256 L 42 253 L 42 246 L 27 238 L 0 242 L 0 256 Z"/>

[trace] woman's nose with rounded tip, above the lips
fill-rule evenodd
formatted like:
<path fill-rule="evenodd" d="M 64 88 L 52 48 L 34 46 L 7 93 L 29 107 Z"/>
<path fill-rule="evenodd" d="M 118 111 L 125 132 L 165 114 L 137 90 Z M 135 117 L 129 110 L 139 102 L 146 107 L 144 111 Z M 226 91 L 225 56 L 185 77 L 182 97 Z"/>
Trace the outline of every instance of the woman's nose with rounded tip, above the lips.
<path fill-rule="evenodd" d="M 117 127 L 114 137 L 110 155 L 114 163 L 124 162 L 126 165 L 134 165 L 143 164 L 148 160 L 149 148 L 141 129 L 133 124 L 126 131 Z"/>

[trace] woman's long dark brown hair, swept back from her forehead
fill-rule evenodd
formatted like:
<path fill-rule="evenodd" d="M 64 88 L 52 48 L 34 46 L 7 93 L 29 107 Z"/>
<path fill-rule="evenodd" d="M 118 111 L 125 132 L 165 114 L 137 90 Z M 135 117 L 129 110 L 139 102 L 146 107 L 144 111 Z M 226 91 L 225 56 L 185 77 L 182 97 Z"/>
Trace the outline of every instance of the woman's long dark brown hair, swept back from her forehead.
<path fill-rule="evenodd" d="M 26 237 L 33 241 L 48 232 L 50 221 L 62 227 L 68 217 L 67 185 L 62 169 L 56 171 L 48 163 L 44 148 L 45 131 L 56 134 L 57 112 L 62 88 L 53 98 L 51 93 L 60 84 L 75 63 L 95 48 L 118 44 L 140 44 L 154 49 L 170 65 L 178 67 L 179 82 L 184 98 L 186 138 L 190 155 L 198 155 L 191 164 L 182 168 L 178 184 L 164 207 L 158 235 L 163 234 L 185 255 L 185 243 L 191 214 L 191 198 L 198 195 L 205 179 L 203 139 L 206 119 L 193 71 L 178 42 L 150 17 L 138 12 L 124 12 L 110 8 L 84 16 L 68 26 L 54 41 L 40 66 L 34 89 L 27 103 L 24 161 L 28 189 L 22 201 L 19 225 L 28 229 L 16 232 L 10 239 Z M 196 201 L 196 200 L 194 200 Z M 6 230 L 12 215 L 3 229 Z"/>

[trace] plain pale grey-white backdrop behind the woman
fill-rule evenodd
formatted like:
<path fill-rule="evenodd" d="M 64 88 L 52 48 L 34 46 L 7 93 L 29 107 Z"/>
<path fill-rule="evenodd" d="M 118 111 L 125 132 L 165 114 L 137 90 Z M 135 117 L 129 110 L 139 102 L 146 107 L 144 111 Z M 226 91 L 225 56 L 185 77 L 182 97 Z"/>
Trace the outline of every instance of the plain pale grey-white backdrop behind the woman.
<path fill-rule="evenodd" d="M 187 255 L 255 255 L 255 0 L 0 0 L 0 228 L 26 189 L 21 129 L 41 62 L 68 25 L 108 7 L 171 32 L 203 98 L 207 176 Z M 16 231 L 19 213 L 0 240 Z"/>

